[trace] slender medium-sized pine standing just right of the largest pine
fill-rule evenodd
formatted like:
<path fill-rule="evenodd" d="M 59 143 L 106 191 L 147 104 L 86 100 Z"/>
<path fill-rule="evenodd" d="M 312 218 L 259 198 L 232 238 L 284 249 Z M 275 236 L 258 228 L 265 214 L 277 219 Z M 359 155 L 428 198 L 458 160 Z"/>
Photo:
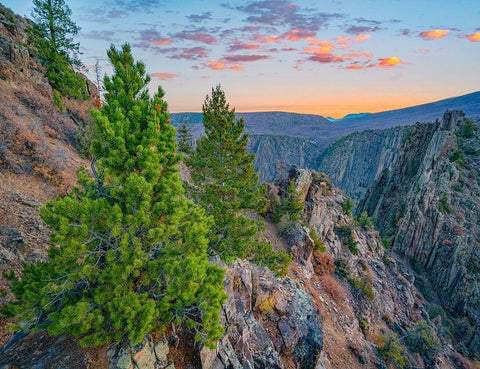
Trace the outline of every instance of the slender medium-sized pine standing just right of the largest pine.
<path fill-rule="evenodd" d="M 253 258 L 280 274 L 286 273 L 289 257 L 259 240 L 267 207 L 266 187 L 258 183 L 254 154 L 247 152 L 248 135 L 243 119 L 235 119 L 220 86 L 212 89 L 203 105 L 205 136 L 187 158 L 194 196 L 214 218 L 210 253 L 225 262 Z"/>

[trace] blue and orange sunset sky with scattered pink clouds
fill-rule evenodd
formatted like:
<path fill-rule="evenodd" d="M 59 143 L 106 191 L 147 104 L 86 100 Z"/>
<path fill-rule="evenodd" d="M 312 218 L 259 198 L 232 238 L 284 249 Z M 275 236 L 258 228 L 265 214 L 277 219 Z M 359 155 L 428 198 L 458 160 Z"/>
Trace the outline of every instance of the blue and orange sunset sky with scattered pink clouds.
<path fill-rule="evenodd" d="M 0 0 L 30 17 L 31 0 Z M 221 84 L 237 111 L 334 118 L 480 90 L 478 0 L 66 0 L 81 59 L 128 42 L 171 112 Z"/>

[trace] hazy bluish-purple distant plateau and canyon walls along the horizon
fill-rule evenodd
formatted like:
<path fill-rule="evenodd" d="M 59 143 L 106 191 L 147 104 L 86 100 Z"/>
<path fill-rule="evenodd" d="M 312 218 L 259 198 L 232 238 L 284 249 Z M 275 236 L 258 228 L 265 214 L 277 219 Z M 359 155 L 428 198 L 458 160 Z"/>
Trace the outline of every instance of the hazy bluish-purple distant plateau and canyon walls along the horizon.
<path fill-rule="evenodd" d="M 335 150 L 330 150 L 330 153 L 326 152 L 327 148 L 353 132 L 412 126 L 416 122 L 435 121 L 441 119 L 448 109 L 463 110 L 469 117 L 480 117 L 480 91 L 404 109 L 349 114 L 334 122 L 330 122 L 321 115 L 278 111 L 237 113 L 237 117 L 245 119 L 245 130 L 251 135 L 249 150 L 257 155 L 255 167 L 262 181 L 273 181 L 281 174 L 279 168 L 298 165 L 302 168 L 328 172 L 336 185 L 347 190 L 350 196 L 360 198 L 375 179 L 376 172 L 373 171 L 373 167 L 362 164 L 368 172 L 368 180 L 362 182 L 360 186 L 362 188 L 358 191 L 358 181 L 352 181 L 344 171 L 355 170 L 361 158 L 365 157 L 369 165 L 376 162 L 373 158 L 377 158 L 386 167 L 390 167 L 395 157 L 392 153 L 398 149 L 406 131 L 398 131 L 398 135 L 394 135 L 395 138 L 390 136 L 390 133 L 377 135 L 375 132 L 366 132 L 365 138 L 370 137 L 373 141 L 360 145 L 364 146 L 364 149 L 357 151 L 355 155 L 350 153 L 349 161 L 343 164 L 335 163 L 334 156 L 345 150 L 348 151 L 348 148 L 337 147 Z M 171 114 L 171 121 L 175 127 L 179 127 L 183 121 L 186 121 L 196 137 L 203 133 L 202 119 L 202 113 Z M 360 140 L 364 136 L 358 136 L 355 140 Z M 383 141 L 383 138 L 386 141 Z M 380 147 L 382 142 L 389 145 L 387 150 Z M 352 147 L 358 146 L 356 143 L 352 145 Z M 368 145 L 375 145 L 375 147 L 368 147 Z M 369 156 L 367 152 L 373 156 Z M 349 184 L 347 185 L 345 181 Z"/>

